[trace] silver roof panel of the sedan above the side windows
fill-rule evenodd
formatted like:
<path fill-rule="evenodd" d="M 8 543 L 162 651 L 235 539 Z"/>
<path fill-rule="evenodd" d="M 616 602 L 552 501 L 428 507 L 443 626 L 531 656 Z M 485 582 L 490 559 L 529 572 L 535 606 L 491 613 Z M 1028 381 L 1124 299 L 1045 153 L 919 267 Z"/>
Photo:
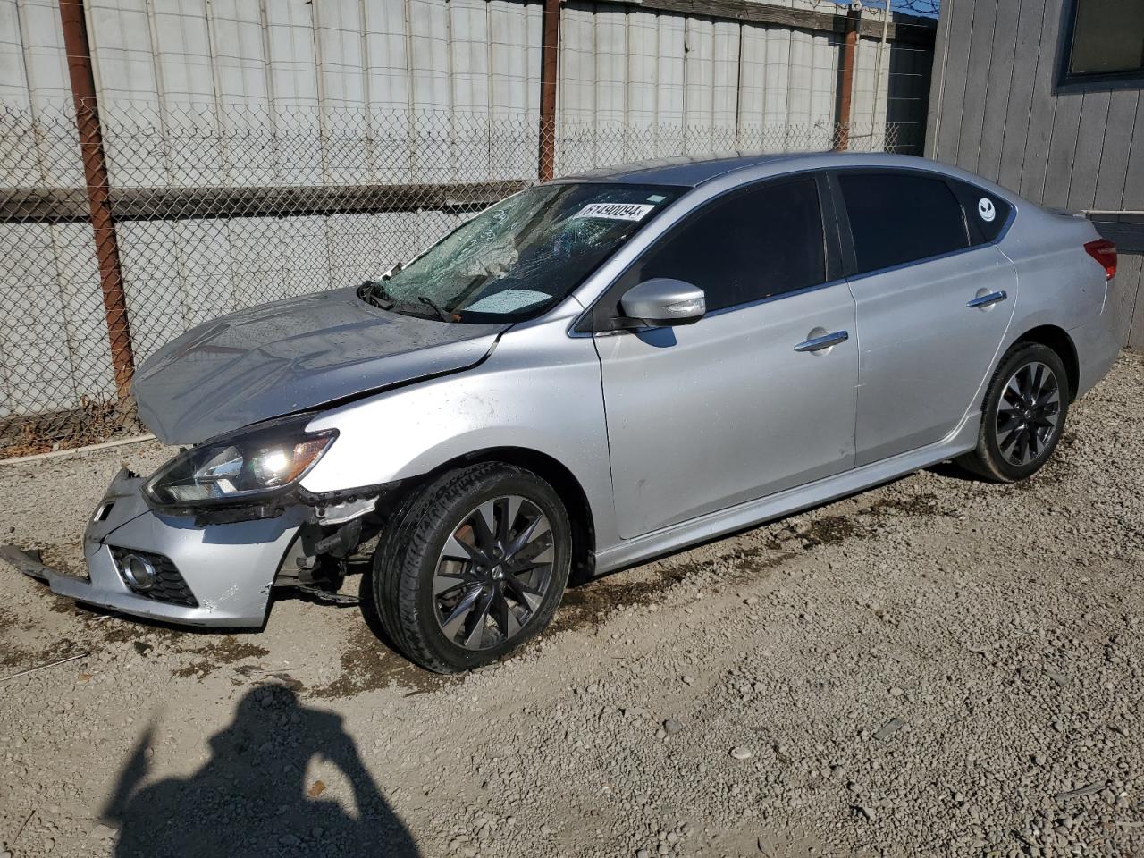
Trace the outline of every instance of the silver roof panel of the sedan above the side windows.
<path fill-rule="evenodd" d="M 621 164 L 614 167 L 563 176 L 561 182 L 620 182 L 631 184 L 660 184 L 696 188 L 718 176 L 763 165 L 779 166 L 789 161 L 792 169 L 826 169 L 828 167 L 913 167 L 952 174 L 945 165 L 903 154 L 865 152 L 781 152 L 776 154 L 742 154 L 740 152 L 681 156 L 659 160 Z M 776 170 L 781 173 L 781 167 Z"/>

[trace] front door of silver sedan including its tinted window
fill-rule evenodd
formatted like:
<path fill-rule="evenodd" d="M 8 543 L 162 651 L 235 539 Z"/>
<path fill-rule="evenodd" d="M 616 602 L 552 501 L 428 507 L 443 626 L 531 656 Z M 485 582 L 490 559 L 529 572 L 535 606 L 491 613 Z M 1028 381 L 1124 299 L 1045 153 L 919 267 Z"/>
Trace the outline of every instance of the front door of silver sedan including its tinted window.
<path fill-rule="evenodd" d="M 821 181 L 716 198 L 605 295 L 669 277 L 707 300 L 691 325 L 595 335 L 621 537 L 853 467 L 855 303 L 832 279 Z"/>

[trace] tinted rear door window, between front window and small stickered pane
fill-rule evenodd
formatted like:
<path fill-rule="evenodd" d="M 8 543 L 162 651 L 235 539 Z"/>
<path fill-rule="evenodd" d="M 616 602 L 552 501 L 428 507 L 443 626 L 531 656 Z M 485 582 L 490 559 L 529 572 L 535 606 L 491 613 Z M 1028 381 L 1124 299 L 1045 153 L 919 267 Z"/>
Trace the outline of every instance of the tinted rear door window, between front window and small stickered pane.
<path fill-rule="evenodd" d="M 909 173 L 839 173 L 858 271 L 969 247 L 961 204 L 942 178 Z"/>

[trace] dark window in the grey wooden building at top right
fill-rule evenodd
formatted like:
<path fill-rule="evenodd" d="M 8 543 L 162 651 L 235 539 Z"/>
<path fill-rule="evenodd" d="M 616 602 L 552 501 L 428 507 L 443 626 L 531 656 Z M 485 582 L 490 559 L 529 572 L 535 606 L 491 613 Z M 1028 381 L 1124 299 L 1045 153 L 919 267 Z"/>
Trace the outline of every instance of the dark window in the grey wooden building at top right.
<path fill-rule="evenodd" d="M 1067 0 L 1060 82 L 1144 86 L 1144 2 Z"/>

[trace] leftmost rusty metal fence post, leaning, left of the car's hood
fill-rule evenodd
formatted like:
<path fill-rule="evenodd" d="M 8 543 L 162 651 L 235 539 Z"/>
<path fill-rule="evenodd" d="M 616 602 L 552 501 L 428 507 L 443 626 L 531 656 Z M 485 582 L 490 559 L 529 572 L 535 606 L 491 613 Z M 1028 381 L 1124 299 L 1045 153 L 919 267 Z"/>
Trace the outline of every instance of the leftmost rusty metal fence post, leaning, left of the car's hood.
<path fill-rule="evenodd" d="M 76 128 L 79 132 L 84 176 L 87 180 L 87 201 L 92 212 L 95 233 L 95 255 L 100 264 L 100 287 L 103 291 L 103 310 L 108 317 L 108 339 L 111 342 L 111 364 L 116 372 L 116 391 L 120 403 L 130 397 L 135 356 L 132 333 L 127 324 L 127 297 L 124 294 L 124 275 L 119 263 L 119 240 L 111 214 L 108 189 L 108 162 L 103 153 L 103 130 L 92 73 L 92 49 L 87 41 L 84 21 L 84 0 L 59 0 L 63 24 L 64 51 L 67 54 L 67 73 L 71 78 L 72 100 L 76 104 Z"/>

